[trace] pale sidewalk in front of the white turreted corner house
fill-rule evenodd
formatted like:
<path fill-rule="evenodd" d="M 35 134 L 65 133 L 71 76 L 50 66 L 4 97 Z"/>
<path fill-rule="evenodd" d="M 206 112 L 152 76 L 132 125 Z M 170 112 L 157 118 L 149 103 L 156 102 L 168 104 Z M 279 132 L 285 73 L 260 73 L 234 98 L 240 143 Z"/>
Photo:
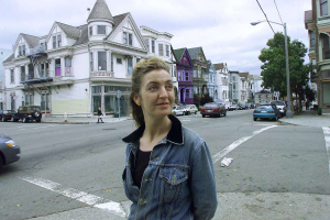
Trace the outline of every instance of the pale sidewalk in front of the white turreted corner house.
<path fill-rule="evenodd" d="M 113 116 L 105 116 L 102 117 L 105 123 L 116 123 L 120 121 L 125 120 L 132 120 L 132 117 L 120 117 L 114 118 Z M 42 123 L 62 123 L 62 124 L 90 124 L 90 123 L 97 123 L 98 117 L 67 117 L 66 121 L 64 117 L 52 117 L 50 114 L 43 116 Z"/>

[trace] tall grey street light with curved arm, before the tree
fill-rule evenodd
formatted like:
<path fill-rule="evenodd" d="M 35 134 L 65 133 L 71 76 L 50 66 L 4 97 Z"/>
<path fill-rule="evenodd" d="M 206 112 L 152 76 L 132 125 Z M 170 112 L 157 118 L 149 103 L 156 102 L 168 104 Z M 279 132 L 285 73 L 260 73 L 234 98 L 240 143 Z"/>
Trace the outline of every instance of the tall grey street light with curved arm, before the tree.
<path fill-rule="evenodd" d="M 251 25 L 260 24 L 264 21 L 251 22 Z M 290 94 L 290 78 L 289 78 L 289 67 L 288 67 L 288 50 L 287 50 L 287 35 L 286 35 L 286 23 L 280 24 L 273 21 L 268 21 L 270 23 L 278 24 L 284 28 L 285 33 L 285 56 L 286 56 L 286 89 L 287 89 L 287 110 L 286 110 L 286 118 L 293 118 L 292 111 L 292 94 Z"/>

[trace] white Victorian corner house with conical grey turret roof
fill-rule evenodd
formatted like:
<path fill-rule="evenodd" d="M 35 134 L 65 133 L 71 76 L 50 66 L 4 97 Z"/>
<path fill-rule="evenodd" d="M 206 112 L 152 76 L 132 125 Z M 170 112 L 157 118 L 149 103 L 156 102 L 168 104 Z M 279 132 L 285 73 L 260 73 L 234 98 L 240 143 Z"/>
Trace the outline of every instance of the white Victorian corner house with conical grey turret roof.
<path fill-rule="evenodd" d="M 41 106 L 52 114 L 129 113 L 134 65 L 147 47 L 131 13 L 112 16 L 97 0 L 87 24 L 54 22 L 45 36 L 20 34 L 3 63 L 4 109 Z M 117 91 L 121 91 L 117 98 Z"/>

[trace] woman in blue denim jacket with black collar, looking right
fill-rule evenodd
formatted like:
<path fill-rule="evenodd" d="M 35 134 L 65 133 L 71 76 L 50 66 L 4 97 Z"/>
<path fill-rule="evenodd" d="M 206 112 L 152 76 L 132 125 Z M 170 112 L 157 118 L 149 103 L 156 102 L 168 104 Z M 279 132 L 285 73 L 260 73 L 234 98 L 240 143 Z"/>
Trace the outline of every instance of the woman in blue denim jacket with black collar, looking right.
<path fill-rule="evenodd" d="M 131 105 L 139 127 L 124 138 L 123 184 L 129 219 L 211 219 L 217 209 L 213 165 L 206 142 L 170 114 L 174 86 L 167 65 L 142 59 L 132 75 Z"/>

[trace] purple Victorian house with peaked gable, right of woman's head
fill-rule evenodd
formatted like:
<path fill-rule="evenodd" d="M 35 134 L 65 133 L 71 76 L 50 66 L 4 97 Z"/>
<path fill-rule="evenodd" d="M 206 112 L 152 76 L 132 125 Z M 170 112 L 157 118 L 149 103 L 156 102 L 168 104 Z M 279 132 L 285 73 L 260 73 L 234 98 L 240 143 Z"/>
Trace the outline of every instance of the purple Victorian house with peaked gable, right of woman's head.
<path fill-rule="evenodd" d="M 178 101 L 183 105 L 194 103 L 193 61 L 187 48 L 174 50 L 174 54 L 177 61 Z"/>

